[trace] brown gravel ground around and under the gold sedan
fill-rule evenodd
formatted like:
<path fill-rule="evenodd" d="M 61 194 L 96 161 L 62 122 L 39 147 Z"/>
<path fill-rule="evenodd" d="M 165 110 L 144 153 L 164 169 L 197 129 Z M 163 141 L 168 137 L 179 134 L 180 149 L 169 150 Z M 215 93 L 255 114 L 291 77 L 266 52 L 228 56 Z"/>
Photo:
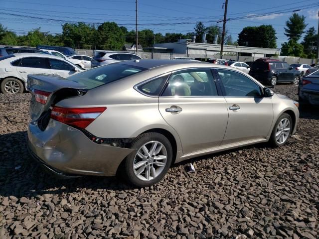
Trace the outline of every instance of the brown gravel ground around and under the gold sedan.
<path fill-rule="evenodd" d="M 296 86 L 275 91 L 298 100 Z M 25 147 L 29 100 L 0 94 L 1 239 L 319 238 L 318 109 L 301 108 L 298 134 L 282 148 L 189 160 L 136 189 L 115 178 L 45 173 Z"/>

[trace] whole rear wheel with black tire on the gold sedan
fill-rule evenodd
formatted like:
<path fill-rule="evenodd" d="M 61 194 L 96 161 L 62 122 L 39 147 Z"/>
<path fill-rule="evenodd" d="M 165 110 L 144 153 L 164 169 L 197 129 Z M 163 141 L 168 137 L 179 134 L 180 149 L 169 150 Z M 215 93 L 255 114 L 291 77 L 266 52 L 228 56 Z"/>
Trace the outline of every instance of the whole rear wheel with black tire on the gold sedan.
<path fill-rule="evenodd" d="M 137 151 L 129 154 L 124 162 L 123 176 L 137 187 L 149 187 L 165 176 L 172 162 L 169 140 L 156 132 L 144 133 L 131 144 Z"/>

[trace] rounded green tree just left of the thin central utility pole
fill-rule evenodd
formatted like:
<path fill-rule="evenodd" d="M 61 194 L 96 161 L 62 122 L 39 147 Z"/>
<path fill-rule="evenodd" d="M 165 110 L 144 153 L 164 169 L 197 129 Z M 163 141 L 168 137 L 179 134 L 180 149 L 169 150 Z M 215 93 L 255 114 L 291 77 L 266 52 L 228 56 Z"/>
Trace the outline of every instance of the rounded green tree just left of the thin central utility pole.
<path fill-rule="evenodd" d="M 121 50 L 125 35 L 115 22 L 104 22 L 97 29 L 97 46 L 101 49 Z"/>

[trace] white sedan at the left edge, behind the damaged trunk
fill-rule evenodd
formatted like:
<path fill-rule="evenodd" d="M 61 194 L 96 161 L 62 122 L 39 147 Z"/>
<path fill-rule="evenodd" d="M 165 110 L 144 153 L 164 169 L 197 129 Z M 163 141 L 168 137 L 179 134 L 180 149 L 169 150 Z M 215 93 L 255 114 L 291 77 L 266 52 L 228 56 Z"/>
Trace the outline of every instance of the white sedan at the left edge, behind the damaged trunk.
<path fill-rule="evenodd" d="M 29 74 L 58 75 L 63 78 L 83 71 L 73 63 L 60 57 L 19 53 L 0 58 L 0 90 L 3 94 L 22 93 L 26 89 Z"/>

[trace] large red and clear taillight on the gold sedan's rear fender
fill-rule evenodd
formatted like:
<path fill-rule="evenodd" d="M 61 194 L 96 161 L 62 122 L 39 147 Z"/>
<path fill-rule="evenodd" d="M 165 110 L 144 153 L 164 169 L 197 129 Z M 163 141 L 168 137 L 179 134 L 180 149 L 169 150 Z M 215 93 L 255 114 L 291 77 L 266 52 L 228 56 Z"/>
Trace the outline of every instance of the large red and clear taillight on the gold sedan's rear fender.
<path fill-rule="evenodd" d="M 51 118 L 62 123 L 76 126 L 79 128 L 86 128 L 94 119 L 98 118 L 106 107 L 92 107 L 92 108 L 62 108 L 53 107 L 51 111 Z"/>

